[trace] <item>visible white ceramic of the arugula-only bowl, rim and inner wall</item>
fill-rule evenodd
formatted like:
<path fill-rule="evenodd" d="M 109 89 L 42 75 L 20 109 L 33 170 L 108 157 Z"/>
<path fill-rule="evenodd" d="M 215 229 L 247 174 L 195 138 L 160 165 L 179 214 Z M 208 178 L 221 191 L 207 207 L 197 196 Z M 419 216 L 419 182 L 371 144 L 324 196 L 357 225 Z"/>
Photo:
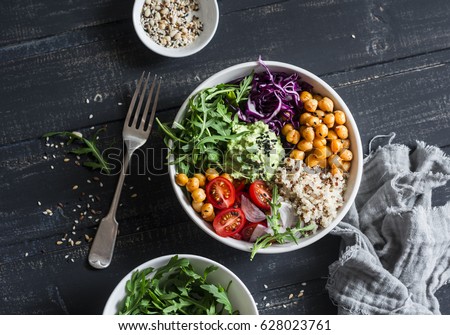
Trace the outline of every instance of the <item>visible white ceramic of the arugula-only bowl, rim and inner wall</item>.
<path fill-rule="evenodd" d="M 134 271 L 143 270 L 149 267 L 159 268 L 166 265 L 173 256 L 175 255 L 166 255 L 152 259 L 139 265 L 128 273 L 120 281 L 120 283 L 117 284 L 116 288 L 109 296 L 105 308 L 103 309 L 103 315 L 115 315 L 123 306 L 122 304 L 124 303 L 126 296 L 125 285 L 131 278 Z M 253 300 L 250 291 L 247 289 L 245 284 L 228 268 L 211 259 L 201 256 L 180 254 L 178 257 L 189 259 L 197 273 L 203 273 L 204 269 L 208 266 L 217 266 L 218 269 L 208 275 L 208 282 L 211 284 L 221 284 L 222 287 L 227 287 L 229 282 L 232 281 L 228 290 L 228 297 L 234 310 L 239 310 L 241 315 L 258 315 L 258 309 L 256 308 L 255 301 Z"/>

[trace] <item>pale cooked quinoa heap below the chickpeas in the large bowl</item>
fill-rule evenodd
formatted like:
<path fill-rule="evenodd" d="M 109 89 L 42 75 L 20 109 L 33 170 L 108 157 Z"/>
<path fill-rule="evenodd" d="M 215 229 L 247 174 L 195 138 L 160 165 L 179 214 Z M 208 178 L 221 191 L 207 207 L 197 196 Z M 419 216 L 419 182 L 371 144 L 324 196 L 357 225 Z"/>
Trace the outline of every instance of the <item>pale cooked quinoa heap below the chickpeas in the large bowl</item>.
<path fill-rule="evenodd" d="M 294 207 L 305 225 L 327 227 L 344 203 L 347 174 L 311 169 L 301 160 L 286 158 L 275 177 L 280 196 Z"/>

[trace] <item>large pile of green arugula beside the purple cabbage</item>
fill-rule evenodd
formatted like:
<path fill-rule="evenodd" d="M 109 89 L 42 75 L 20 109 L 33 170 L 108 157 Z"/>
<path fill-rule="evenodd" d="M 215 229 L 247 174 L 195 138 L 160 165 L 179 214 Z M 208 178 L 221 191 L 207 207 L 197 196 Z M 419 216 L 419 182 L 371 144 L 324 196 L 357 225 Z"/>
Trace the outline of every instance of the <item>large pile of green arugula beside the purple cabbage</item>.
<path fill-rule="evenodd" d="M 156 121 L 165 133 L 165 144 L 173 154 L 180 173 L 192 175 L 209 167 L 222 169 L 227 143 L 243 133 L 233 134 L 232 125 L 238 122 L 236 110 L 248 99 L 253 73 L 239 84 L 219 84 L 194 95 L 182 123 L 173 128 Z M 172 145 L 169 145 L 172 140 Z"/>

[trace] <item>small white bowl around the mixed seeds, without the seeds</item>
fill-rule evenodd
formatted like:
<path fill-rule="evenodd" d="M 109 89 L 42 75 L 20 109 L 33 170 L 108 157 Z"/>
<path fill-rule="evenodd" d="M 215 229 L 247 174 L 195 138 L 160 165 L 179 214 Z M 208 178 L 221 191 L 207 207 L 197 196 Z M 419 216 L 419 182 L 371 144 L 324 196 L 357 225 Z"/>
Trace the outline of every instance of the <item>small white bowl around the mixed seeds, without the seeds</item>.
<path fill-rule="evenodd" d="M 168 48 L 154 42 L 141 24 L 141 12 L 145 0 L 136 0 L 133 6 L 133 25 L 139 39 L 147 48 L 166 57 L 186 57 L 202 50 L 213 38 L 219 24 L 219 6 L 216 0 L 197 0 L 199 10 L 195 13 L 203 22 L 203 31 L 189 45 Z"/>

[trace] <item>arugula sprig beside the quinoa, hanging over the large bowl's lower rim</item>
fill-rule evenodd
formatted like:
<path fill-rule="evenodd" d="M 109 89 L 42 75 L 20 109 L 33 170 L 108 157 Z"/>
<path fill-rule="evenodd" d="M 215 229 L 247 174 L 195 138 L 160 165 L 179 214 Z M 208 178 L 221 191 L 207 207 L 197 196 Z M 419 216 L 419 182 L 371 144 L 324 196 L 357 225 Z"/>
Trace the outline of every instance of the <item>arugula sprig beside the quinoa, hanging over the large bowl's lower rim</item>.
<path fill-rule="evenodd" d="M 273 243 L 298 243 L 300 237 L 307 236 L 309 232 L 314 230 L 317 225 L 312 223 L 308 226 L 302 227 L 299 220 L 295 227 L 287 227 L 285 231 L 281 231 L 281 215 L 280 215 L 281 202 L 278 196 L 278 187 L 274 185 L 272 189 L 272 200 L 270 201 L 270 215 L 267 215 L 267 226 L 272 229 L 273 234 L 264 234 L 258 237 L 253 244 L 250 260 L 252 260 L 258 250 L 270 247 Z"/>

